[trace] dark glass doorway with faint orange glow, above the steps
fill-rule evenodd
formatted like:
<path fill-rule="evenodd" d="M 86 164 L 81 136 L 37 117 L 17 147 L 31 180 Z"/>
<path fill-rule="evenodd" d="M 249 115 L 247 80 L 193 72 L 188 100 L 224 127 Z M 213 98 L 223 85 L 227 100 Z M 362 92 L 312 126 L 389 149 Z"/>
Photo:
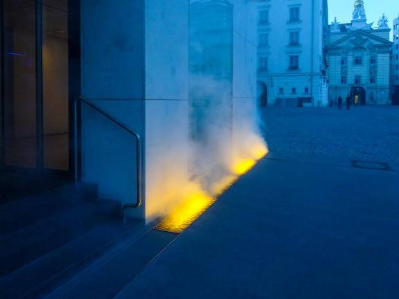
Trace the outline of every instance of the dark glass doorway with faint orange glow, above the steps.
<path fill-rule="evenodd" d="M 1 1 L 3 170 L 73 172 L 71 99 L 80 78 L 70 53 L 78 14 L 78 1 Z"/>

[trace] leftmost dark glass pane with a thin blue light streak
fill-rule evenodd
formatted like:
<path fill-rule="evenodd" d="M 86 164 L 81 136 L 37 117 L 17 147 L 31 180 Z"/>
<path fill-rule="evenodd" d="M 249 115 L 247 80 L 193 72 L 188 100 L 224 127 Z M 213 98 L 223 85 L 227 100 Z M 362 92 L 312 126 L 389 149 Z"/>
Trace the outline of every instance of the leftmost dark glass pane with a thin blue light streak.
<path fill-rule="evenodd" d="M 35 1 L 3 0 L 4 163 L 36 166 Z"/>

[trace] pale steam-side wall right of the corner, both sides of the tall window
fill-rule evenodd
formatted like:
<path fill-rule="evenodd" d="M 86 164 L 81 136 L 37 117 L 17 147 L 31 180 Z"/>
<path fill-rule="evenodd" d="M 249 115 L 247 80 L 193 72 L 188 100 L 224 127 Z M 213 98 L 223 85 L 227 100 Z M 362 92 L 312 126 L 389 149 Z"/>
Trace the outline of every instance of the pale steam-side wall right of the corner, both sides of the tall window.
<path fill-rule="evenodd" d="M 162 215 L 193 183 L 192 162 L 206 160 L 190 142 L 189 3 L 145 1 L 145 215 Z M 242 127 L 256 123 L 256 20 L 245 0 L 231 0 L 233 24 L 233 142 L 244 143 Z M 160 48 L 162 54 L 160 55 Z M 221 136 L 224 138 L 224 136 Z M 227 138 L 229 139 L 229 138 Z M 224 156 L 213 163 L 224 164 Z M 205 162 L 204 162 L 205 163 Z M 209 179 L 212 173 L 201 173 Z M 194 179 L 195 182 L 195 179 Z M 195 183 L 198 183 L 196 181 Z M 184 193 L 184 191 L 183 191 Z"/>

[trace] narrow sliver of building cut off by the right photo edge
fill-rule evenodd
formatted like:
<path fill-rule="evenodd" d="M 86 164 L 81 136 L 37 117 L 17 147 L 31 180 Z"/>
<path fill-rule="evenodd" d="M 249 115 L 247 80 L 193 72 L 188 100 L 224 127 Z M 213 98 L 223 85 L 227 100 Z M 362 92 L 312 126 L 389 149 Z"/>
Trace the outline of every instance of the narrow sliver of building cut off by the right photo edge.
<path fill-rule="evenodd" d="M 399 17 L 393 20 L 393 46 L 391 60 L 392 104 L 399 105 Z"/>

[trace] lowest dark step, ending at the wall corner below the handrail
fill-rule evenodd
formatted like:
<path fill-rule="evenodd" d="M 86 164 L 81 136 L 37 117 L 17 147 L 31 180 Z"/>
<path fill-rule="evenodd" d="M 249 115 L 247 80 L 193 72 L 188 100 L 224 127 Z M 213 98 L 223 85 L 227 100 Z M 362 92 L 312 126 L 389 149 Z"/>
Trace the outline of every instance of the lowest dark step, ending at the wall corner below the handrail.
<path fill-rule="evenodd" d="M 105 253 L 115 250 L 142 226 L 109 221 L 0 280 L 1 298 L 42 298 Z"/>

